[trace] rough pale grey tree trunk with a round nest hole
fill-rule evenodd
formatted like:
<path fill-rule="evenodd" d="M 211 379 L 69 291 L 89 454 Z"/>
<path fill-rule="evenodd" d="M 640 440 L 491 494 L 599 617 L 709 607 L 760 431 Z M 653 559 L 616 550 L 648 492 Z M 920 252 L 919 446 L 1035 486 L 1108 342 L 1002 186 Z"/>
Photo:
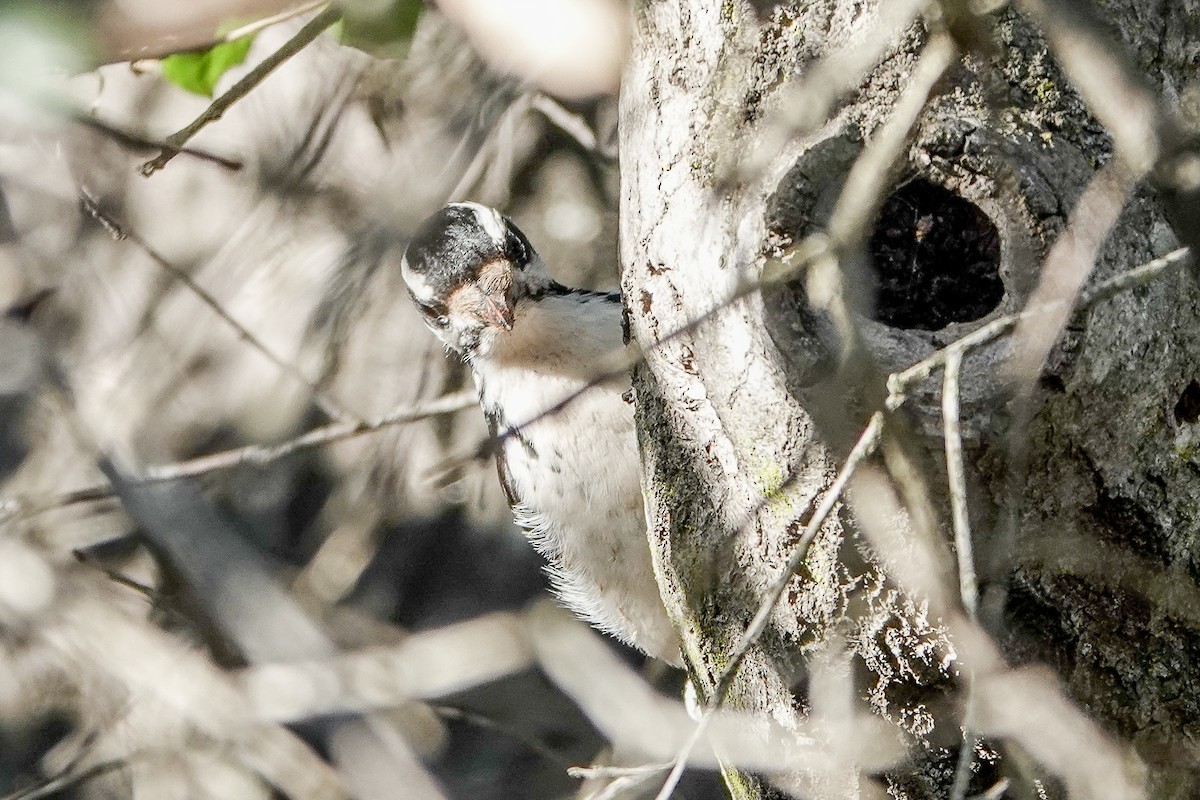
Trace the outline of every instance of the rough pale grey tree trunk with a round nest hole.
<path fill-rule="evenodd" d="M 646 354 L 635 386 L 649 535 L 692 680 L 709 702 L 858 431 L 882 408 L 882 375 L 1031 299 L 1074 302 L 1082 281 L 1096 285 L 1177 247 L 1157 196 L 1114 158 L 1056 65 L 1062 53 L 1030 18 L 954 16 L 958 4 L 946 4 L 943 20 L 905 24 L 913 4 L 882 4 L 904 32 L 857 79 L 856 55 L 877 41 L 876 4 L 763 5 L 641 4 L 620 100 L 623 289 Z M 1195 4 L 1115 5 L 1105 7 L 1114 41 L 1124 36 L 1156 91 L 1186 97 Z M 864 206 L 877 213 L 839 230 L 847 173 L 864 143 L 887 138 L 935 40 L 970 55 L 953 60 L 896 163 L 880 173 L 886 182 Z M 826 118 L 823 97 L 836 96 L 829 86 L 839 80 L 850 100 Z M 782 287 L 746 289 L 781 255 L 803 260 L 802 242 L 823 241 L 806 237 L 826 228 L 840 264 L 832 277 L 812 267 Z M 1030 317 L 1015 339 L 968 349 L 962 361 L 978 619 L 1009 667 L 1055 668 L 1064 692 L 1120 742 L 1114 752 L 1135 753 L 1115 766 L 1134 777 L 1097 789 L 1106 796 L 1139 794 L 1142 769 L 1153 796 L 1200 792 L 1186 744 L 1200 721 L 1196 307 L 1193 276 L 1165 270 L 1062 312 L 1061 323 Z M 1055 336 L 1043 362 L 1039 342 Z M 880 464 L 906 499 L 906 536 L 936 553 L 922 539 L 932 530 L 948 553 L 942 381 L 917 384 L 884 425 Z M 889 452 L 920 468 L 923 500 L 896 477 Z M 940 597 L 926 606 L 912 579 L 881 566 L 893 563 L 868 546 L 878 541 L 872 515 L 839 506 L 823 524 L 728 702 L 798 723 L 836 702 L 818 688 L 828 684 L 818 664 L 850 654 L 858 697 L 926 745 L 853 790 L 949 796 L 960 727 L 976 732 L 964 687 L 979 664 L 961 656 L 978 651 L 954 636 L 954 620 L 973 609 Z M 924 577 L 946 583 L 936 571 Z M 1063 766 L 1069 759 L 984 728 L 1004 756 L 974 765 L 971 793 L 1002 776 L 1018 792 L 1038 790 L 1033 781 L 1051 793 L 1087 786 Z M 774 792 L 728 777 L 734 796 Z M 806 796 L 850 796 L 845 784 L 799 780 Z"/>

